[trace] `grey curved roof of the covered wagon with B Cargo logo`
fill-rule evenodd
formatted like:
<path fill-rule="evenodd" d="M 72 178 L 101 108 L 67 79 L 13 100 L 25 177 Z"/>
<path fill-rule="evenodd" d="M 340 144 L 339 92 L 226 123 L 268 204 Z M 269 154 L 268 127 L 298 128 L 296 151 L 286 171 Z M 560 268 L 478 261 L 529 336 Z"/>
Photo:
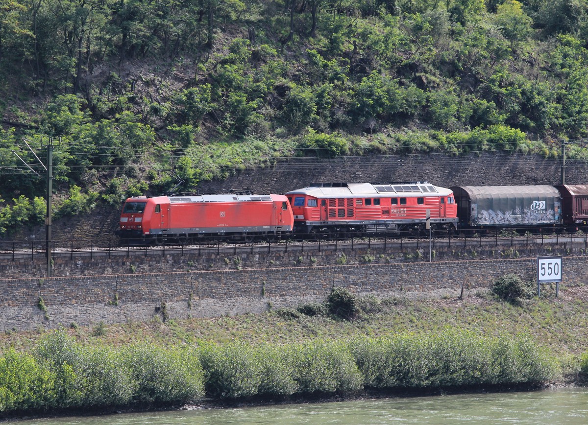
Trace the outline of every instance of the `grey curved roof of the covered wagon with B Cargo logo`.
<path fill-rule="evenodd" d="M 536 196 L 542 198 L 560 198 L 559 191 L 554 186 L 453 186 L 450 188 L 455 195 L 467 193 L 472 202 L 484 199 L 522 198 Z"/>

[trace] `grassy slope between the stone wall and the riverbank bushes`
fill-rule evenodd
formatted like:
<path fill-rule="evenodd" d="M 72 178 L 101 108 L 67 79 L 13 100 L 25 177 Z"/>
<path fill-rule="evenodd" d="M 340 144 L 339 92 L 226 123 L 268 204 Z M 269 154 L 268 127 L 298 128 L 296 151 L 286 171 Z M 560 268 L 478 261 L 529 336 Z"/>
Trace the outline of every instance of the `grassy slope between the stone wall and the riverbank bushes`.
<path fill-rule="evenodd" d="M 522 306 L 496 302 L 482 292 L 469 293 L 463 300 L 395 300 L 379 313 L 365 314 L 354 322 L 325 317 L 285 317 L 280 314 L 245 314 L 213 319 L 152 320 L 148 323 L 112 324 L 104 334 L 97 328 L 70 329 L 86 343 L 125 344 L 152 340 L 157 344 L 217 343 L 232 340 L 258 342 L 294 342 L 306 339 L 349 339 L 354 335 L 371 336 L 399 332 L 436 333 L 443 328 L 459 327 L 481 334 L 528 333 L 559 357 L 588 350 L 588 288 L 562 289 L 560 298 L 533 299 Z M 0 349 L 9 345 L 31 346 L 44 331 L 14 332 L 0 335 Z"/>

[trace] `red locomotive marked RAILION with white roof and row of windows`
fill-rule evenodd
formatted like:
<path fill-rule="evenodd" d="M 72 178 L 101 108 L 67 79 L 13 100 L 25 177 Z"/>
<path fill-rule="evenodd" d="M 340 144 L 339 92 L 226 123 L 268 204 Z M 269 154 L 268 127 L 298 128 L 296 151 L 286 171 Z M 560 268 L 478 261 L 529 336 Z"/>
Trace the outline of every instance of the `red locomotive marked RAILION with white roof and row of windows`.
<path fill-rule="evenodd" d="M 453 192 L 426 182 L 313 183 L 286 193 L 300 233 L 399 232 L 457 228 Z"/>

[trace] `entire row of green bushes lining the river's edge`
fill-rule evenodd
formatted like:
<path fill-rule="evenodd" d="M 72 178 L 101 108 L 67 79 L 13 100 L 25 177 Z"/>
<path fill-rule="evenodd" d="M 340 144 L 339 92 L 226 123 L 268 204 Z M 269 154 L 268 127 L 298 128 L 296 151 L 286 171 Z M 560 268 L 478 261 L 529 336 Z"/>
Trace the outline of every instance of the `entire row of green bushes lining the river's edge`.
<path fill-rule="evenodd" d="M 331 396 L 362 389 L 539 384 L 557 365 L 529 337 L 447 329 L 305 343 L 116 349 L 51 332 L 0 357 L 0 414 L 169 406 L 203 397 Z"/>

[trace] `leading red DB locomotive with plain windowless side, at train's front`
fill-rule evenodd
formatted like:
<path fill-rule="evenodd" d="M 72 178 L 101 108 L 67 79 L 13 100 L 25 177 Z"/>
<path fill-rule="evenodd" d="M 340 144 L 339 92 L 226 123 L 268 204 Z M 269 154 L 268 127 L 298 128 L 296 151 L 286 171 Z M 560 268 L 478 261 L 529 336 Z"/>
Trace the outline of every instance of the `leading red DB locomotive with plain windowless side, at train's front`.
<path fill-rule="evenodd" d="M 283 195 L 138 196 L 122 208 L 119 235 L 189 242 L 201 236 L 252 240 L 292 233 L 294 217 Z"/>

